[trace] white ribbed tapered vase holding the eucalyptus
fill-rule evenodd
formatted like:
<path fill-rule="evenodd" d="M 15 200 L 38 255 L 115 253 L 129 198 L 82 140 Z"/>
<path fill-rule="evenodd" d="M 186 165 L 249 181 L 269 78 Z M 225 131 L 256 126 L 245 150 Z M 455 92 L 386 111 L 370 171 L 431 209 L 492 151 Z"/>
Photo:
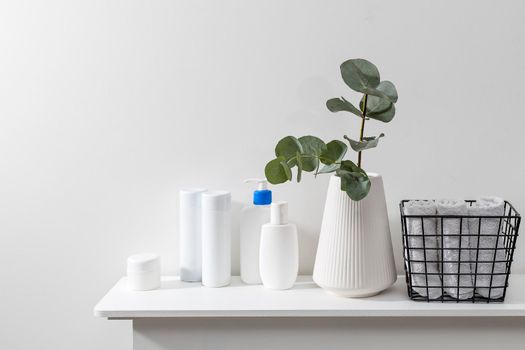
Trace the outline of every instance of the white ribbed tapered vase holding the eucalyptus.
<path fill-rule="evenodd" d="M 359 202 L 330 178 L 313 279 L 344 297 L 375 295 L 396 281 L 394 253 L 381 175 L 369 173 L 371 188 Z"/>

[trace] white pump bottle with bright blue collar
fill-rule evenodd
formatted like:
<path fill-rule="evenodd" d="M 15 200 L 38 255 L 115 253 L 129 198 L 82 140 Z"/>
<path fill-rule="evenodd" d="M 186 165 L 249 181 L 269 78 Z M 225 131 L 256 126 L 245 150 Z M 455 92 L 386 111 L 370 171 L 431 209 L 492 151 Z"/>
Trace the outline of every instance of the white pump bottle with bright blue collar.
<path fill-rule="evenodd" d="M 241 211 L 241 280 L 247 284 L 260 284 L 261 227 L 270 221 L 272 191 L 268 190 L 266 179 L 246 179 L 244 182 L 257 183 L 257 190 L 253 192 L 253 205 L 247 206 Z"/>

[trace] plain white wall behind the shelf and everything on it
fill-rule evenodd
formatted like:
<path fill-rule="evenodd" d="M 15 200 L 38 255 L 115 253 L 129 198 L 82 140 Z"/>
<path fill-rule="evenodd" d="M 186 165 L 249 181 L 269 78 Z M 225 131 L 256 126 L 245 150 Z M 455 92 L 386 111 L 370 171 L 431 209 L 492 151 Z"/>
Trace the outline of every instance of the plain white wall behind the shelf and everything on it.
<path fill-rule="evenodd" d="M 381 172 L 397 258 L 404 198 L 497 194 L 525 210 L 525 5 L 519 1 L 4 1 L 0 5 L 0 348 L 128 349 L 92 316 L 126 256 L 177 271 L 177 191 L 249 201 L 282 136 L 341 138 L 368 58 L 398 113 Z M 275 188 L 310 272 L 327 178 Z M 525 242 L 514 271 L 525 272 Z M 237 260 L 238 257 L 235 257 Z M 398 262 L 398 267 L 400 266 Z M 512 281 L 511 281 L 512 282 Z"/>

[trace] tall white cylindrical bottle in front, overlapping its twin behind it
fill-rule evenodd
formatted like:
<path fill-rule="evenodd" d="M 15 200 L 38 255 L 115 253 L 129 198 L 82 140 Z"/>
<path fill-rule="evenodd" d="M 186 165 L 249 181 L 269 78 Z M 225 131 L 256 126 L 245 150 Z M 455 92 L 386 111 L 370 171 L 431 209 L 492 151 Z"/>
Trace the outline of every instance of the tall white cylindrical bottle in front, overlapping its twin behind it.
<path fill-rule="evenodd" d="M 231 196 L 227 191 L 202 195 L 202 284 L 223 287 L 231 279 Z"/>

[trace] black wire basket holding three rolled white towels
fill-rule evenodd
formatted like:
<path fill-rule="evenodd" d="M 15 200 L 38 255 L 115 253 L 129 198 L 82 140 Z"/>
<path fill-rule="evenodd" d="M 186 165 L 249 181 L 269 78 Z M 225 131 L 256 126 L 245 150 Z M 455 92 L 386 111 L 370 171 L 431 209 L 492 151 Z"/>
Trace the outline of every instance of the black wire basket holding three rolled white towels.
<path fill-rule="evenodd" d="M 399 206 L 410 299 L 503 302 L 521 221 L 516 209 L 504 201 L 503 215 L 407 215 L 408 202 Z"/>

